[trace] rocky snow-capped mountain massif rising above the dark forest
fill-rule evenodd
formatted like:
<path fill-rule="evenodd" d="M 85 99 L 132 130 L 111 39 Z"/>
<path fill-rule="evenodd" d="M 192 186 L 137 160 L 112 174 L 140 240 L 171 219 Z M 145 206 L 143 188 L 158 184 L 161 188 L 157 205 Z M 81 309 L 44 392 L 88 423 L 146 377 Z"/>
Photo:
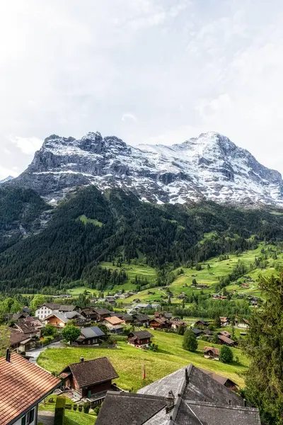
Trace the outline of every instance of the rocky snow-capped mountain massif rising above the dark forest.
<path fill-rule="evenodd" d="M 89 132 L 80 140 L 51 135 L 28 169 L 9 184 L 33 188 L 48 200 L 93 184 L 101 191 L 124 188 L 156 203 L 209 199 L 283 205 L 281 174 L 216 132 L 178 145 L 137 147 L 99 132 Z"/>

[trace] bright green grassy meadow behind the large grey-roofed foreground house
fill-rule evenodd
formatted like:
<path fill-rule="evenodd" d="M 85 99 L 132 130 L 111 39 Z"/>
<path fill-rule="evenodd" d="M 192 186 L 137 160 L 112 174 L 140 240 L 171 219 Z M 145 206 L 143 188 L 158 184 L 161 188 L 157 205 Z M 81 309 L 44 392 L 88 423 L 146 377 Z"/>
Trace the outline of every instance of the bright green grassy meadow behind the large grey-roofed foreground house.
<path fill-rule="evenodd" d="M 182 348 L 183 336 L 161 331 L 151 331 L 151 334 L 154 335 L 154 344 L 158 344 L 156 353 L 143 351 L 129 346 L 125 342 L 119 342 L 120 348 L 117 350 L 106 348 L 60 348 L 55 350 L 47 348 L 40 354 L 37 362 L 42 368 L 59 373 L 67 364 L 79 361 L 81 356 L 86 360 L 107 356 L 119 374 L 119 378 L 116 380 L 117 385 L 132 391 L 137 391 L 189 363 L 224 375 L 243 386 L 243 378 L 238 374 L 246 370 L 248 360 L 237 348 L 233 348 L 233 352 L 235 356 L 238 356 L 239 363 L 233 362 L 226 365 L 204 358 L 202 350 L 207 345 L 204 341 L 199 341 L 196 353 L 190 353 Z M 210 343 L 209 345 L 216 346 Z M 145 380 L 141 379 L 143 365 L 146 366 Z"/>

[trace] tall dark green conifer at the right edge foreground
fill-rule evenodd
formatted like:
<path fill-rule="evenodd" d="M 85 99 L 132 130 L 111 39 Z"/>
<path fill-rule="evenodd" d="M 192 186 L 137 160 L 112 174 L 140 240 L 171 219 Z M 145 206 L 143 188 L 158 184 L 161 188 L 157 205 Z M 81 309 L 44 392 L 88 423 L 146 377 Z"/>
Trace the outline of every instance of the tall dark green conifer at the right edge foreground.
<path fill-rule="evenodd" d="M 283 424 L 283 274 L 260 276 L 265 303 L 253 312 L 243 351 L 250 358 L 246 398 L 258 406 L 262 422 Z"/>

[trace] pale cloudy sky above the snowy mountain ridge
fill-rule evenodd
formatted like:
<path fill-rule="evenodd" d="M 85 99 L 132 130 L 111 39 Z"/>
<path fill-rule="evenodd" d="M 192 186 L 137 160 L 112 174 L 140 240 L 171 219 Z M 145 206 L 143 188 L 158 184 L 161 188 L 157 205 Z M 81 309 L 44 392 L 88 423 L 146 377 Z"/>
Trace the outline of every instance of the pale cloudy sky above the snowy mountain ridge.
<path fill-rule="evenodd" d="M 281 0 L 0 2 L 0 178 L 51 134 L 217 131 L 283 173 Z"/>

